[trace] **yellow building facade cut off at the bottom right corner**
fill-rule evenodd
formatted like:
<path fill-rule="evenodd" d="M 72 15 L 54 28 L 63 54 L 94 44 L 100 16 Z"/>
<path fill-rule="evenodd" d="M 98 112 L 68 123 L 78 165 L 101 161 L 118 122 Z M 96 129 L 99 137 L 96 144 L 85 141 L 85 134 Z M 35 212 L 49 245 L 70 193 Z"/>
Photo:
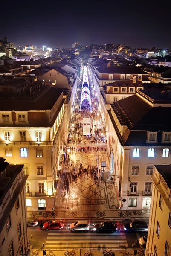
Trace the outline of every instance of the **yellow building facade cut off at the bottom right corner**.
<path fill-rule="evenodd" d="M 171 165 L 155 165 L 145 256 L 171 255 Z"/>

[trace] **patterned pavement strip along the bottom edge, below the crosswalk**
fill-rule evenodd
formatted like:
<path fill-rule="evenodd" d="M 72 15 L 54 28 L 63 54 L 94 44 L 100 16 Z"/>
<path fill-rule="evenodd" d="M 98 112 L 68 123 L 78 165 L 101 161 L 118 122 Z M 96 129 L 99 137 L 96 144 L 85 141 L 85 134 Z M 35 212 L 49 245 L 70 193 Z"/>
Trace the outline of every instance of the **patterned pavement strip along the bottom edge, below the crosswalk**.
<path fill-rule="evenodd" d="M 137 255 L 145 256 L 145 250 L 136 249 Z M 32 250 L 32 256 L 43 256 L 43 250 Z M 99 250 L 46 250 L 46 256 L 134 256 L 134 249 L 99 249 Z"/>

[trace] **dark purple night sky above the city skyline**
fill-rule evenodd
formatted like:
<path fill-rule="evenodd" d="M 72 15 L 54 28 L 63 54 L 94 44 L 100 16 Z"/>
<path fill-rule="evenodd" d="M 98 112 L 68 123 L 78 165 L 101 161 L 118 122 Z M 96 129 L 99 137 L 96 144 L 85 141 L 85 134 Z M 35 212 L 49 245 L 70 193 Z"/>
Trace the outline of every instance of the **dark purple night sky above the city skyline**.
<path fill-rule="evenodd" d="M 171 1 L 12 1 L 1 3 L 0 38 L 15 46 L 128 44 L 171 49 Z M 3 6 L 4 5 L 4 6 Z M 10 3 L 9 3 L 10 5 Z M 4 10 L 4 11 L 2 11 Z"/>

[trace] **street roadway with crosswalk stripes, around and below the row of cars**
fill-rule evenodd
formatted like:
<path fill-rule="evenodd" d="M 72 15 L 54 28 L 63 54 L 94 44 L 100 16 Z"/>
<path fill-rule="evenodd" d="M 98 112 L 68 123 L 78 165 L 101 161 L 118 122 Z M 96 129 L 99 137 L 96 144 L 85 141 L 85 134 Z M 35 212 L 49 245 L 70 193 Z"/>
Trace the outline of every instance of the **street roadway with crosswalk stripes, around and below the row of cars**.
<path fill-rule="evenodd" d="M 146 233 L 95 233 L 93 231 L 93 224 L 104 220 L 95 220 L 90 223 L 90 230 L 88 232 L 70 232 L 69 225 L 72 221 L 65 221 L 63 230 L 40 230 L 39 225 L 37 227 L 28 227 L 29 237 L 31 245 L 34 249 L 41 249 L 42 243 L 45 244 L 45 248 L 66 250 L 73 248 L 84 248 L 84 249 L 104 249 L 104 248 L 123 248 L 131 247 L 136 241 L 136 248 L 139 248 L 138 239 L 144 236 Z M 123 220 L 123 222 L 125 222 Z M 123 226 L 121 220 L 116 221 L 118 227 Z M 129 222 L 129 221 L 127 221 Z M 32 236 L 31 236 L 32 235 Z M 67 244 L 68 243 L 68 244 Z"/>

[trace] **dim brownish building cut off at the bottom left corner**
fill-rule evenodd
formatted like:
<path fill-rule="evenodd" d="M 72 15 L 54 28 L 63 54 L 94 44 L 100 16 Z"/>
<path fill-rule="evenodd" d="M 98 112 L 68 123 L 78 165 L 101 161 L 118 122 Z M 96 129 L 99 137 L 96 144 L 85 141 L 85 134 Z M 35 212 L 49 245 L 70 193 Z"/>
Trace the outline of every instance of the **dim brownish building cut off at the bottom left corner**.
<path fill-rule="evenodd" d="M 29 255 L 25 183 L 22 164 L 0 157 L 0 255 Z"/>

